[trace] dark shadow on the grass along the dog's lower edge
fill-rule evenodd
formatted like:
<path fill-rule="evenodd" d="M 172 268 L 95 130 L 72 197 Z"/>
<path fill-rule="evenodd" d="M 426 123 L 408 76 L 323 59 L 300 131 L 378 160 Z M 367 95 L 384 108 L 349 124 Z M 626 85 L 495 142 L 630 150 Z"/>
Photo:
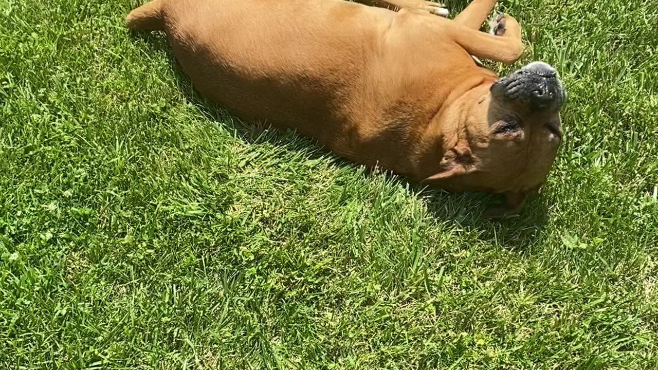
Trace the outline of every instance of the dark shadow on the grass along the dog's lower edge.
<path fill-rule="evenodd" d="M 285 145 L 294 149 L 307 149 L 309 157 L 331 157 L 338 166 L 357 167 L 338 155 L 332 154 L 324 148 L 313 144 L 309 138 L 304 138 L 288 130 L 268 129 L 266 126 L 242 122 L 232 116 L 226 109 L 218 107 L 215 103 L 205 99 L 193 89 L 190 78 L 184 73 L 169 47 L 168 41 L 162 34 L 138 32 L 135 37 L 142 38 L 151 47 L 166 53 L 170 65 L 174 70 L 174 77 L 179 88 L 186 94 L 188 101 L 196 105 L 209 119 L 220 122 L 238 137 L 249 144 Z M 308 150 L 311 149 L 311 150 Z M 372 171 L 365 172 L 364 176 L 372 176 Z M 530 246 L 541 234 L 547 225 L 547 205 L 545 198 L 539 194 L 532 196 L 520 215 L 502 220 L 487 220 L 482 218 L 484 209 L 495 205 L 503 199 L 501 196 L 481 192 L 448 193 L 436 188 L 425 188 L 417 182 L 388 173 L 393 182 L 405 186 L 417 194 L 426 203 L 428 210 L 438 220 L 453 221 L 459 227 L 478 232 L 480 238 L 495 242 L 503 248 L 510 250 L 523 250 Z"/>

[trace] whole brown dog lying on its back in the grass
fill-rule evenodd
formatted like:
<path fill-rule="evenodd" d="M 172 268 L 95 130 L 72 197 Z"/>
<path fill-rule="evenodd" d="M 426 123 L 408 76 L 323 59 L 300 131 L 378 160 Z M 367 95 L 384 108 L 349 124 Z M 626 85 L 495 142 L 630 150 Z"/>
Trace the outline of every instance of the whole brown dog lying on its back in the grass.
<path fill-rule="evenodd" d="M 362 1 L 380 5 L 382 0 Z M 495 0 L 454 20 L 420 0 L 401 9 L 342 0 L 155 0 L 126 18 L 164 30 L 195 88 L 241 119 L 293 128 L 343 157 L 446 190 L 503 193 L 518 213 L 561 142 L 566 95 L 555 70 L 531 63 L 505 78 L 471 56 L 513 63 L 508 15 L 480 32 Z"/>

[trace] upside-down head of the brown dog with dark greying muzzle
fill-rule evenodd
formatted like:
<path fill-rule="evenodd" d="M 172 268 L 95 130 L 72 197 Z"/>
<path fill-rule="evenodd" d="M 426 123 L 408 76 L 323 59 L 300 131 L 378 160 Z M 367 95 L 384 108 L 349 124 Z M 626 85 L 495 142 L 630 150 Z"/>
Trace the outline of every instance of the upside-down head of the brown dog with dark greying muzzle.
<path fill-rule="evenodd" d="M 566 99 L 557 72 L 546 63 L 499 78 L 468 109 L 457 143 L 424 183 L 447 190 L 536 190 L 562 141 L 559 110 Z"/>

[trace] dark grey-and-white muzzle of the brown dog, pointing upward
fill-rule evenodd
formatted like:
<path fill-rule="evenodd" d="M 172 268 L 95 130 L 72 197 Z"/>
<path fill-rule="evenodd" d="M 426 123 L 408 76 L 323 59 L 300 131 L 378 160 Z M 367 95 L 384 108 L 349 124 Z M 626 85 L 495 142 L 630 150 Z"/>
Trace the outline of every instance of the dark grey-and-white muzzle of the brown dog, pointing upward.
<path fill-rule="evenodd" d="M 497 80 L 491 91 L 495 97 L 522 101 L 533 111 L 558 111 L 567 100 L 567 92 L 557 71 L 544 62 L 533 62 Z"/>

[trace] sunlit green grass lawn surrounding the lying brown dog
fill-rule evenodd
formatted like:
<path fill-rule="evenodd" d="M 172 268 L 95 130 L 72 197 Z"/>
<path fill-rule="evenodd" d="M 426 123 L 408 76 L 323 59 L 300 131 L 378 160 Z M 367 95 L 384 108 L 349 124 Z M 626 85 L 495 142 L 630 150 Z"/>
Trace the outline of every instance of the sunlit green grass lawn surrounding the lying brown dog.
<path fill-rule="evenodd" d="M 0 0 L 0 368 L 658 369 L 657 2 L 499 5 L 570 96 L 501 222 L 232 118 L 136 5 Z"/>

